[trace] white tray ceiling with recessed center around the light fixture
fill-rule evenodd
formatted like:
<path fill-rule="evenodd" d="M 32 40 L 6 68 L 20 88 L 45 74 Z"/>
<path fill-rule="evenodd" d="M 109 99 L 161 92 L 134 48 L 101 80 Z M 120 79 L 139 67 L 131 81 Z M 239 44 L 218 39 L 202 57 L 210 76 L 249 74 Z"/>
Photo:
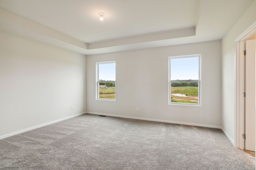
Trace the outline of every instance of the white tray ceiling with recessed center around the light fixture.
<path fill-rule="evenodd" d="M 110 53 L 222 39 L 253 1 L 0 0 L 0 30 L 85 55 Z"/>

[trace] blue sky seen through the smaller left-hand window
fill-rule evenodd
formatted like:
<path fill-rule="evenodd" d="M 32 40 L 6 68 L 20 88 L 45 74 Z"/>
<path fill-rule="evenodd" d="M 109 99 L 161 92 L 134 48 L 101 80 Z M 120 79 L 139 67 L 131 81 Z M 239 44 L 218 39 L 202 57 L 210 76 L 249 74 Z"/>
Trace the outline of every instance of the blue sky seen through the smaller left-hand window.
<path fill-rule="evenodd" d="M 116 63 L 99 64 L 99 80 L 116 81 Z"/>

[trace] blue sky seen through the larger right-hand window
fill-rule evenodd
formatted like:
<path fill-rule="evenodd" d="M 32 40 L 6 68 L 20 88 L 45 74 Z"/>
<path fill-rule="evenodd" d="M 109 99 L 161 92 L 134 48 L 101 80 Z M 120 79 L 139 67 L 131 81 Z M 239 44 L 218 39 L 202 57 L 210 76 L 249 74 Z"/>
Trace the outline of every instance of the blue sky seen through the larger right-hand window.
<path fill-rule="evenodd" d="M 171 80 L 198 80 L 198 57 L 171 59 Z"/>

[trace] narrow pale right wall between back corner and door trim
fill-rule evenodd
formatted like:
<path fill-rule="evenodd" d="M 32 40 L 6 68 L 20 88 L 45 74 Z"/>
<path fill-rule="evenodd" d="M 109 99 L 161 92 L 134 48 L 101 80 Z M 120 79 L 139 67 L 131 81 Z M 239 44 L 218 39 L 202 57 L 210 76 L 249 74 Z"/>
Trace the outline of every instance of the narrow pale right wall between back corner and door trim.
<path fill-rule="evenodd" d="M 235 133 L 235 39 L 256 21 L 256 1 L 222 39 L 222 121 L 221 126 L 234 143 Z M 226 121 L 224 121 L 226 117 Z"/>

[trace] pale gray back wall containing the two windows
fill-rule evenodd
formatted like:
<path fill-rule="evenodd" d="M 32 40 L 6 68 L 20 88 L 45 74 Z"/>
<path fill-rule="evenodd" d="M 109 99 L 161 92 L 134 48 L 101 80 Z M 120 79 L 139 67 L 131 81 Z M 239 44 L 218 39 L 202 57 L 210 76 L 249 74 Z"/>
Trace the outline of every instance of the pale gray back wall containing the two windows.
<path fill-rule="evenodd" d="M 168 57 L 192 54 L 202 54 L 202 106 L 168 105 Z M 116 61 L 116 102 L 96 100 L 96 62 L 104 61 Z M 220 68 L 221 41 L 90 55 L 87 111 L 220 127 Z"/>

